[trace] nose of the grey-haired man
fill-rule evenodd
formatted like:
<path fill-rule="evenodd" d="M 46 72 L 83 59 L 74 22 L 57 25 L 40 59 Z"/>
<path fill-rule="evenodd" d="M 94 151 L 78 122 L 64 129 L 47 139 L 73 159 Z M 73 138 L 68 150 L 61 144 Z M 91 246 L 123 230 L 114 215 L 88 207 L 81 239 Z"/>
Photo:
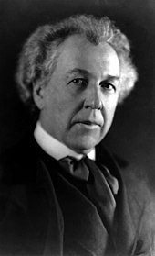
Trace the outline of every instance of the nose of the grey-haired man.
<path fill-rule="evenodd" d="M 84 101 L 84 107 L 85 108 L 91 108 L 91 109 L 97 109 L 101 110 L 103 107 L 102 101 L 101 101 L 101 92 L 99 91 L 99 88 L 93 87 L 88 88 L 88 91 L 86 92 L 86 99 Z"/>

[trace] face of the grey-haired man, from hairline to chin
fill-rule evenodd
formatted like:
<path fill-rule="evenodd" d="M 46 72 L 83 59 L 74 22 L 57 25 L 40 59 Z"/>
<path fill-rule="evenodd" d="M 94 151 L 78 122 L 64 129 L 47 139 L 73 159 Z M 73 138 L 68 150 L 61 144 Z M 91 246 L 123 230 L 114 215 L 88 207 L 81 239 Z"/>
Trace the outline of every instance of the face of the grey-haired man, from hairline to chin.
<path fill-rule="evenodd" d="M 59 48 L 52 77 L 41 92 L 40 122 L 70 149 L 87 153 L 105 137 L 119 97 L 119 59 L 108 43 L 80 36 Z"/>

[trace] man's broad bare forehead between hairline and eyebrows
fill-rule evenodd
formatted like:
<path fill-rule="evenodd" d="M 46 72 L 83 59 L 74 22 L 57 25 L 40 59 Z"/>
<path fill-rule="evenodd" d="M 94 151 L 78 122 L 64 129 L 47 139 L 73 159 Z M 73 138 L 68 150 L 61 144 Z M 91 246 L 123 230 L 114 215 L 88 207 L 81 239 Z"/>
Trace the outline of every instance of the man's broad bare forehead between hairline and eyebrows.
<path fill-rule="evenodd" d="M 94 45 L 84 36 L 70 36 L 59 47 L 59 52 L 57 68 L 64 72 L 74 67 L 119 76 L 118 55 L 107 42 Z"/>

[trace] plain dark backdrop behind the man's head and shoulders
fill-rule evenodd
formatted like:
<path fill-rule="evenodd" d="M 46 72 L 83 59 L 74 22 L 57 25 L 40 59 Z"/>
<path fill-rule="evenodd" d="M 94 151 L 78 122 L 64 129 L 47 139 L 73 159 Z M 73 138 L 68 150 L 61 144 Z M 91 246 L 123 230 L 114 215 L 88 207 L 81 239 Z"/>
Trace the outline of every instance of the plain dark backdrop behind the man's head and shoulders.
<path fill-rule="evenodd" d="M 0 151 L 14 145 L 31 126 L 15 91 L 15 67 L 26 37 L 39 25 L 68 15 L 106 15 L 131 41 L 139 82 L 122 106 L 105 144 L 130 161 L 155 192 L 155 1 L 0 0 Z"/>

